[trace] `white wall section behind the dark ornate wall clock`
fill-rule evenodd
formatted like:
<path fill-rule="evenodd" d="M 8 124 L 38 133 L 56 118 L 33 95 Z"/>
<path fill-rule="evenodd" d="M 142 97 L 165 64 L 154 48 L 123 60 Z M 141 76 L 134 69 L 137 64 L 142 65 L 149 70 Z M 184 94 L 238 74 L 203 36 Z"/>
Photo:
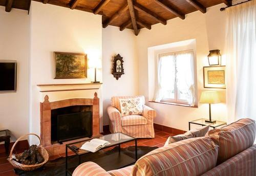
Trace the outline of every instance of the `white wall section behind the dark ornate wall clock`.
<path fill-rule="evenodd" d="M 132 30 L 119 31 L 118 27 L 102 29 L 103 56 L 103 124 L 109 124 L 106 108 L 112 96 L 138 95 L 138 62 L 136 36 Z M 113 58 L 120 54 L 124 60 L 124 75 L 118 80 L 111 74 Z"/>

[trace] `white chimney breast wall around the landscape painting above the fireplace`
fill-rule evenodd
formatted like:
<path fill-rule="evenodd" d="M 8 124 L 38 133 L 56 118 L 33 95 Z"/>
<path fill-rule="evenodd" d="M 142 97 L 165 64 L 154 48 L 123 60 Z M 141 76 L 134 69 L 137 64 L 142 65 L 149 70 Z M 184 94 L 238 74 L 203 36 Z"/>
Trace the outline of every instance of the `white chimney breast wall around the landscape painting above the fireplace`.
<path fill-rule="evenodd" d="M 88 70 L 88 79 L 53 79 L 53 52 L 87 53 L 88 59 L 101 59 L 102 27 L 100 15 L 34 1 L 29 16 L 30 131 L 39 134 L 40 94 L 37 84 L 86 83 L 94 80 L 93 69 Z M 100 70 L 98 80 L 102 81 Z M 102 124 L 102 108 L 100 113 Z"/>

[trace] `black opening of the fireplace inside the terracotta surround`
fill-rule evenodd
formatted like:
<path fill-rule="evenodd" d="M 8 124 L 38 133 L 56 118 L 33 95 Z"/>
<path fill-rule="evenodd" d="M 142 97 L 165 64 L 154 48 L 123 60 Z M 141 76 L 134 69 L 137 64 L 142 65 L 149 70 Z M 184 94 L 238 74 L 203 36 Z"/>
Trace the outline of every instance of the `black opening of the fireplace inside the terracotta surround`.
<path fill-rule="evenodd" d="M 91 106 L 68 106 L 51 111 L 51 141 L 62 143 L 92 136 Z"/>

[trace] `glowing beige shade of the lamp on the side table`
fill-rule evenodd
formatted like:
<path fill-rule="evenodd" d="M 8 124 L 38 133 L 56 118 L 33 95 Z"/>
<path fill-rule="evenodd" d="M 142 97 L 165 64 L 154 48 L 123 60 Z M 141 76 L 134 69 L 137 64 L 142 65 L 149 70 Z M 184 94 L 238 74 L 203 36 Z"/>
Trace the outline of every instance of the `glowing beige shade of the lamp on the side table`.
<path fill-rule="evenodd" d="M 217 91 L 203 91 L 200 97 L 200 103 L 215 104 L 220 103 L 220 97 Z"/>

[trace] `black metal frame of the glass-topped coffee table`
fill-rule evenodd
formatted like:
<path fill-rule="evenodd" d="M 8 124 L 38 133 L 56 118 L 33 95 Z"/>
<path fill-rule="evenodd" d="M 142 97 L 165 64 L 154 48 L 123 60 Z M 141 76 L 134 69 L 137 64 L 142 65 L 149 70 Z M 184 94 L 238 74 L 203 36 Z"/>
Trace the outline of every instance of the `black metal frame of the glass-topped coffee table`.
<path fill-rule="evenodd" d="M 126 136 L 129 136 L 129 135 L 126 135 Z M 130 137 L 131 137 L 131 136 L 130 136 Z M 131 138 L 133 138 L 133 137 L 131 137 Z M 92 140 L 92 139 L 84 140 L 84 141 L 81 141 L 81 142 L 86 142 L 86 141 L 90 141 L 90 140 Z M 108 146 L 105 146 L 105 147 L 103 147 L 103 148 L 100 148 L 98 151 L 100 151 L 100 150 L 102 150 L 102 149 L 106 149 L 106 148 L 110 148 L 110 147 L 113 147 L 113 146 L 117 146 L 117 145 L 118 145 L 118 151 L 119 151 L 119 153 L 120 153 L 120 152 L 121 152 L 121 144 L 124 144 L 124 143 L 127 143 L 127 142 L 131 142 L 131 141 L 135 141 L 135 162 L 136 162 L 136 161 L 138 160 L 137 138 L 130 139 L 130 140 L 127 140 L 127 141 L 118 143 L 118 144 L 113 144 L 113 145 L 110 144 L 110 145 L 108 145 Z M 68 170 L 68 148 L 69 148 L 70 150 L 72 150 L 72 151 L 75 153 L 76 156 L 78 156 L 78 158 L 79 158 L 79 164 L 78 164 L 78 166 L 81 164 L 81 156 L 86 155 L 86 154 L 88 153 L 88 152 L 86 152 L 86 153 L 82 153 L 82 154 L 79 155 L 79 153 L 77 153 L 77 151 L 71 147 L 72 144 L 76 144 L 76 143 L 77 143 L 77 142 L 70 143 L 70 144 L 66 144 L 66 176 L 68 175 L 68 173 L 69 173 L 70 175 L 72 175 L 72 173 Z M 90 151 L 89 151 L 89 152 L 90 152 Z M 97 152 L 97 151 L 96 151 L 96 152 Z M 126 166 L 129 166 L 129 165 L 131 165 L 131 164 L 134 164 L 135 162 L 130 163 L 130 164 L 126 165 Z M 126 166 L 123 166 L 123 167 L 126 167 Z M 118 168 L 117 168 L 117 169 L 118 169 Z"/>

